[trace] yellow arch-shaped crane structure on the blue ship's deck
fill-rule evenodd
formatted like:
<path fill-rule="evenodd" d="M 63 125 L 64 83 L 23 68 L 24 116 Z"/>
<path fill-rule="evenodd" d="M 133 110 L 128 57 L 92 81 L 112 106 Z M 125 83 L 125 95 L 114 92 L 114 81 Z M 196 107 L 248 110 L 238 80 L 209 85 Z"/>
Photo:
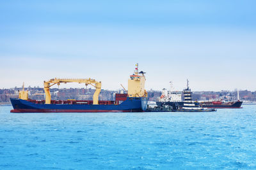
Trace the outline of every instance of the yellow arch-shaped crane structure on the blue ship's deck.
<path fill-rule="evenodd" d="M 44 81 L 44 91 L 45 91 L 45 104 L 51 104 L 51 93 L 50 87 L 52 85 L 60 85 L 60 83 L 85 83 L 85 85 L 92 85 L 96 88 L 93 94 L 93 104 L 99 104 L 99 94 L 101 90 L 101 82 L 95 81 L 94 79 L 70 79 L 70 78 L 52 78 L 49 81 Z"/>

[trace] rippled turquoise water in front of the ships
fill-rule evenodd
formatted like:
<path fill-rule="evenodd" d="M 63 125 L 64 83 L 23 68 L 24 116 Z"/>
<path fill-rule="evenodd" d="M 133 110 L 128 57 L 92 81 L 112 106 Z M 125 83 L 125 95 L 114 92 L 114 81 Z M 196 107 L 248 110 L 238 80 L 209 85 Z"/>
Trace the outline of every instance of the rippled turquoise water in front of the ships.
<path fill-rule="evenodd" d="M 0 169 L 256 169 L 256 105 L 212 113 L 10 113 Z"/>

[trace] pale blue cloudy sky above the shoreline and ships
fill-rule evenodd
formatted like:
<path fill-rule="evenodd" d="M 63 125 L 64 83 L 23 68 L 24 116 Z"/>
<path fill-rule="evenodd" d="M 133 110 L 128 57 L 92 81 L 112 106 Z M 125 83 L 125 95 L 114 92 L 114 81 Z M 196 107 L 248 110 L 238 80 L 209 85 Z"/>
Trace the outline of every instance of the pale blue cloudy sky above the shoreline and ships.
<path fill-rule="evenodd" d="M 256 1 L 1 1 L 0 88 L 94 78 L 127 88 L 256 90 Z M 84 87 L 71 83 L 60 88 Z"/>

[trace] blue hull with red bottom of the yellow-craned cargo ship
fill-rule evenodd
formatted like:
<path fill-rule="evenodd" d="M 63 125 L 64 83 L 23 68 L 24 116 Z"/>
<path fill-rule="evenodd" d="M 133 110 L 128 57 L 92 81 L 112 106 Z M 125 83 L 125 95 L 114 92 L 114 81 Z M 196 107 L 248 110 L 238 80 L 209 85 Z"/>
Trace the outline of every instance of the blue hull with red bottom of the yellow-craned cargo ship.
<path fill-rule="evenodd" d="M 69 113 L 69 112 L 141 112 L 147 110 L 147 97 L 127 97 L 115 104 L 36 104 L 22 99 L 10 99 L 12 113 Z"/>

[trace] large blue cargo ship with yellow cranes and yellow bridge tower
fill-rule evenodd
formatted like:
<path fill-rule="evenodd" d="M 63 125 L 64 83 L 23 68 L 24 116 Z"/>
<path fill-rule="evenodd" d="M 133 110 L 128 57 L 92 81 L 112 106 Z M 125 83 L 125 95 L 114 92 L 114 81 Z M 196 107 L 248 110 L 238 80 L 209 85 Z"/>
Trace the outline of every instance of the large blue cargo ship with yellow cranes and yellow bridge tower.
<path fill-rule="evenodd" d="M 53 78 L 44 81 L 45 100 L 28 99 L 28 91 L 20 90 L 18 99 L 10 99 L 11 113 L 84 113 L 84 112 L 141 112 L 147 110 L 147 91 L 145 90 L 145 73 L 138 71 L 138 64 L 128 80 L 127 94 L 116 94 L 115 101 L 99 101 L 101 82 L 94 79 Z M 93 101 L 54 101 L 51 100 L 50 87 L 60 83 L 85 83 L 96 88 Z"/>

